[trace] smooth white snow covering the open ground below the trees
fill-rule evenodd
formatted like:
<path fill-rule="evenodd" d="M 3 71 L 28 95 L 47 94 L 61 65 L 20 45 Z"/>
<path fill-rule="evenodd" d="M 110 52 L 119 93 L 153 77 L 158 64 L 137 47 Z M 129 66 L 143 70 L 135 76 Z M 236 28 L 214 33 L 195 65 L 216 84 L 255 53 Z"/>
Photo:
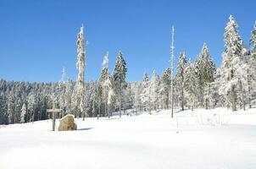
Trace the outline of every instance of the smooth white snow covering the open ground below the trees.
<path fill-rule="evenodd" d="M 51 120 L 0 127 L 0 169 L 256 168 L 256 109 L 77 120 L 53 132 Z"/>

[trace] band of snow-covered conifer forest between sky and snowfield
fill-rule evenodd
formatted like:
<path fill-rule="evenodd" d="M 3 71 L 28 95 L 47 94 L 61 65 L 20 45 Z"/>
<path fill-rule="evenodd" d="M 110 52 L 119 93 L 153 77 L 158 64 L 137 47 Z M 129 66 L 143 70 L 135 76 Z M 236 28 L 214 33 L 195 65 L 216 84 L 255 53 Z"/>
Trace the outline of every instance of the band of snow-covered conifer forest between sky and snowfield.
<path fill-rule="evenodd" d="M 171 69 L 166 68 L 161 75 L 153 71 L 151 78 L 145 73 L 142 81 L 126 82 L 127 69 L 122 52 L 118 53 L 112 74 L 109 73 L 107 52 L 99 79 L 84 82 L 85 64 L 82 63 L 85 63 L 86 52 L 83 41 L 81 38 L 77 44 L 81 69 L 76 82 L 65 80 L 64 71 L 57 83 L 0 79 L 0 124 L 48 119 L 50 115 L 46 110 L 53 104 L 62 109 L 59 117 L 67 113 L 75 117 L 110 117 L 112 112 L 118 111 L 121 117 L 127 109 L 151 114 L 170 108 Z M 214 64 L 205 43 L 193 63 L 186 58 L 185 52 L 179 54 L 173 98 L 174 105 L 180 106 L 181 111 L 218 106 L 237 111 L 256 104 L 256 23 L 248 48 L 239 35 L 236 20 L 230 16 L 225 26 L 224 42 L 220 68 Z M 81 85 L 77 85 L 78 81 Z"/>

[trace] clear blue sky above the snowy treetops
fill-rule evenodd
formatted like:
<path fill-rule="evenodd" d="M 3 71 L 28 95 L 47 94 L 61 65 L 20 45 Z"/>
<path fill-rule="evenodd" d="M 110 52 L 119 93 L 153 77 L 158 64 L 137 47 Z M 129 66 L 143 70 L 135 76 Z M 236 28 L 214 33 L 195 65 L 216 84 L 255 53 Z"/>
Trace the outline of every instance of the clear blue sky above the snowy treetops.
<path fill-rule="evenodd" d="M 85 25 L 86 80 L 95 80 L 109 51 L 112 70 L 119 50 L 127 63 L 127 80 L 141 80 L 153 69 L 169 67 L 170 29 L 175 25 L 175 57 L 192 60 L 203 42 L 220 66 L 223 32 L 230 14 L 248 45 L 256 20 L 256 1 L 84 0 L 0 1 L 0 78 L 58 81 L 62 68 L 76 79 L 76 35 Z M 175 59 L 177 60 L 177 59 Z"/>

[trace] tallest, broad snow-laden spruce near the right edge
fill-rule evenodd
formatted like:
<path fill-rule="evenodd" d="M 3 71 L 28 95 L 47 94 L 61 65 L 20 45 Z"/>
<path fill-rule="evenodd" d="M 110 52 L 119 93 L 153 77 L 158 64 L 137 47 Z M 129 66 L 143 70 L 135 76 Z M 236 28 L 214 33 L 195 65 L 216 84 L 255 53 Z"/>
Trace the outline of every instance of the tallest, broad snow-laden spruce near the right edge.
<path fill-rule="evenodd" d="M 240 72 L 237 71 L 242 61 L 242 40 L 238 35 L 236 20 L 230 16 L 225 27 L 225 51 L 222 53 L 220 94 L 225 95 L 227 107 L 237 110 L 237 90 L 239 87 Z"/>

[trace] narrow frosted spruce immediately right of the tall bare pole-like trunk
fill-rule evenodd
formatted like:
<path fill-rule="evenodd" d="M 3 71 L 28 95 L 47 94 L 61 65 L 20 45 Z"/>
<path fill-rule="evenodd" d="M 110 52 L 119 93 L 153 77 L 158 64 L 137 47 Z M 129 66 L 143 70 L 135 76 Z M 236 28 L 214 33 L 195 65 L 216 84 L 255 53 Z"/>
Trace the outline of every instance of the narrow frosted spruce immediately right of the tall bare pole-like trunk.
<path fill-rule="evenodd" d="M 184 97 L 185 69 L 186 69 L 186 55 L 185 55 L 185 52 L 183 52 L 183 53 L 180 53 L 179 55 L 179 61 L 178 61 L 178 66 L 176 68 L 176 76 L 175 76 L 175 82 L 176 82 L 175 89 L 178 92 L 178 98 L 179 98 L 182 111 L 184 111 L 184 103 L 185 103 L 185 97 Z"/>

